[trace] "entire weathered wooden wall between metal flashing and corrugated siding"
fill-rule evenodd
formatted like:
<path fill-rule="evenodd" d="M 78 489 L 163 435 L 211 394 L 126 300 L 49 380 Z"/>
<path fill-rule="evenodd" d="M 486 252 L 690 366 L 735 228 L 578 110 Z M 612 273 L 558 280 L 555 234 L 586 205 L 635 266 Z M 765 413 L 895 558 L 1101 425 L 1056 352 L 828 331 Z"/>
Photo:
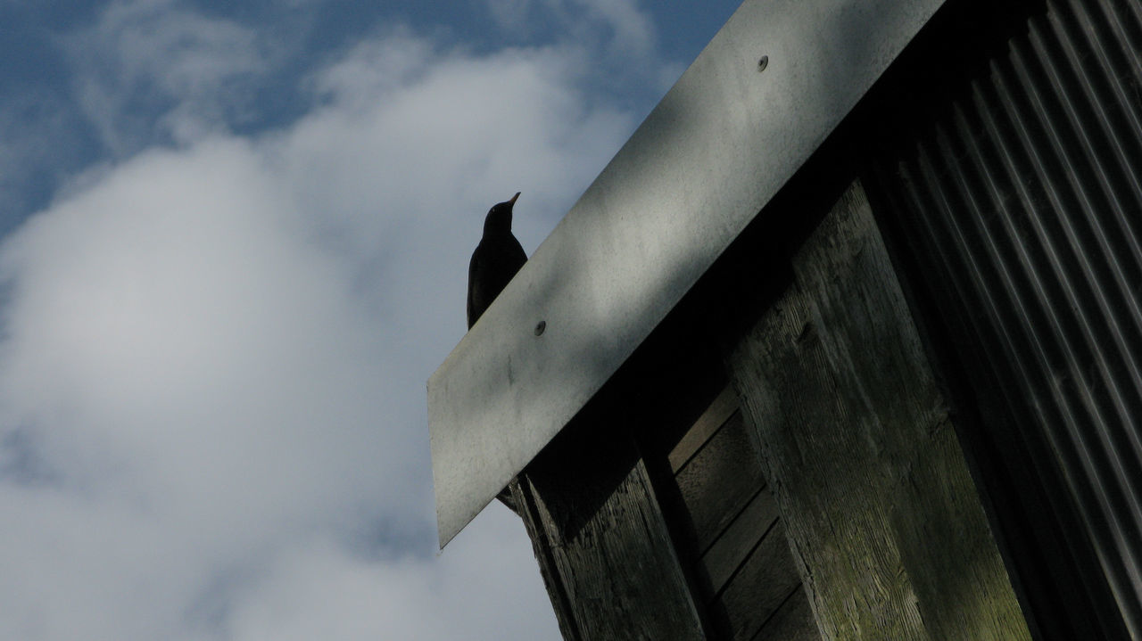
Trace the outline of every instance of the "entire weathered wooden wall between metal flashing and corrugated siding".
<path fill-rule="evenodd" d="M 770 212 L 807 220 L 782 235 L 791 267 L 754 270 L 757 300 L 733 263 L 717 295 L 750 319 L 743 338 L 699 300 L 514 485 L 566 639 L 1030 639 L 868 202 L 845 184 Z"/>

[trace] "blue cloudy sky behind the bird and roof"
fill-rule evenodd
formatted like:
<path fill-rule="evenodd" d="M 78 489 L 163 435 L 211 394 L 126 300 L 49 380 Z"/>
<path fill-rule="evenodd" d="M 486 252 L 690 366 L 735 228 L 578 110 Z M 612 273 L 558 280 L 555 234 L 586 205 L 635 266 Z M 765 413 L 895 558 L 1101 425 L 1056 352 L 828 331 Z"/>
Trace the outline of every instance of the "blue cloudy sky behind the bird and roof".
<path fill-rule="evenodd" d="M 737 2 L 0 0 L 0 639 L 556 639 L 425 381 Z"/>

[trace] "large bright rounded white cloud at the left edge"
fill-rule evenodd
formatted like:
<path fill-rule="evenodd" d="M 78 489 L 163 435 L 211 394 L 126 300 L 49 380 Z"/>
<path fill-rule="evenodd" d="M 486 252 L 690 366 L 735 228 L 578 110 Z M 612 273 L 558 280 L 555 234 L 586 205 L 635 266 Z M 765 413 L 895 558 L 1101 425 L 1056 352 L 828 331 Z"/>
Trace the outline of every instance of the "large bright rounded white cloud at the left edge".
<path fill-rule="evenodd" d="M 375 488 L 372 463 L 402 461 L 384 459 L 385 407 L 365 401 L 385 374 L 380 333 L 257 163 L 234 141 L 143 155 L 9 241 L 5 409 L 10 424 L 50 413 L 53 452 L 90 470 L 89 489 L 154 482 L 279 518 L 343 489 L 313 482 L 328 471 L 315 459 L 369 453 L 341 482 Z M 281 466 L 270 494 L 258 482 Z"/>

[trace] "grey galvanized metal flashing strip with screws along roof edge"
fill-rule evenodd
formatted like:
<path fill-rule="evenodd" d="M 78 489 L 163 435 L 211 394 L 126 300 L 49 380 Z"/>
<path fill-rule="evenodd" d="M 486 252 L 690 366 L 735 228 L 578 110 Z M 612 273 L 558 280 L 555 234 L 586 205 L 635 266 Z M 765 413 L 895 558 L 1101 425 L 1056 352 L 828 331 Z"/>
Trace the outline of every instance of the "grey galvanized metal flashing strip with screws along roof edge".
<path fill-rule="evenodd" d="M 428 380 L 441 547 L 603 387 L 942 3 L 742 3 Z"/>

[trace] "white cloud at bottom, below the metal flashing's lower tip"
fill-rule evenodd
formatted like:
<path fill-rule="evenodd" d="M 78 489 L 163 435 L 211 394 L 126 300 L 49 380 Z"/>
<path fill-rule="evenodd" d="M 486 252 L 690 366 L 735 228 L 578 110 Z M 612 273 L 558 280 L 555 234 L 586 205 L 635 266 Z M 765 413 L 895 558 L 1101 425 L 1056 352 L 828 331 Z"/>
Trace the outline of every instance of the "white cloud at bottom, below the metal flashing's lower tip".
<path fill-rule="evenodd" d="M 498 506 L 497 506 L 498 508 Z M 557 639 L 532 568 L 505 563 L 528 546 L 507 510 L 482 514 L 455 547 L 418 559 L 361 562 L 308 545 L 289 554 L 231 619 L 236 641 Z"/>

